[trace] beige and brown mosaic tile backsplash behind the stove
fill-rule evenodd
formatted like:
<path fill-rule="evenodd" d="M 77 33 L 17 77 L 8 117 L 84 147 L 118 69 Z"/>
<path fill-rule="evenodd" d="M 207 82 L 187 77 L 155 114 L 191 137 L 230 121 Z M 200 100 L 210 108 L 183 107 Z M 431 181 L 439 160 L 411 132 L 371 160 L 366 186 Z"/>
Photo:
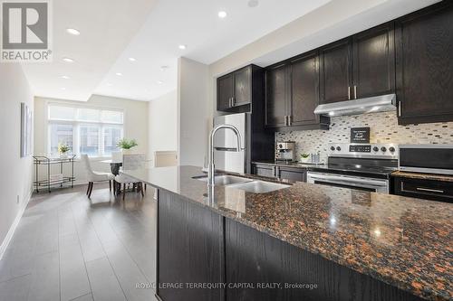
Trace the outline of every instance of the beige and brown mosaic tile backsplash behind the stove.
<path fill-rule="evenodd" d="M 277 132 L 275 142 L 295 141 L 296 160 L 300 154 L 319 152 L 325 162 L 329 143 L 350 143 L 351 127 L 370 127 L 371 143 L 453 145 L 453 122 L 399 126 L 394 112 L 331 118 L 328 131 Z"/>

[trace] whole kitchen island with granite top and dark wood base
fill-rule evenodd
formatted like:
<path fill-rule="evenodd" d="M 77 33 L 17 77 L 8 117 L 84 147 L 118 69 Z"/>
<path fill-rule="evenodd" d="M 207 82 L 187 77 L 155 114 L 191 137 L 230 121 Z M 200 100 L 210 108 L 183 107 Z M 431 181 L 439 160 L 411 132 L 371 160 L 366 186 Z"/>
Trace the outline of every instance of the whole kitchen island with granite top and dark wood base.
<path fill-rule="evenodd" d="M 164 301 L 453 298 L 451 204 L 299 182 L 208 197 L 200 167 L 123 173 L 159 189 Z"/>

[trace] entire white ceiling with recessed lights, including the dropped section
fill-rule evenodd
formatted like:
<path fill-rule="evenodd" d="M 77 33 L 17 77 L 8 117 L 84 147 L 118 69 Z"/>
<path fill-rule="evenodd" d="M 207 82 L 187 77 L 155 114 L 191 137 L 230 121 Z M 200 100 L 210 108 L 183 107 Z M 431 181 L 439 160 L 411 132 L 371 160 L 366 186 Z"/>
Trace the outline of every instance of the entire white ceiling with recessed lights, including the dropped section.
<path fill-rule="evenodd" d="M 329 1 L 259 0 L 254 8 L 248 0 L 53 1 L 53 62 L 24 71 L 41 97 L 156 99 L 176 89 L 178 57 L 217 61 Z"/>

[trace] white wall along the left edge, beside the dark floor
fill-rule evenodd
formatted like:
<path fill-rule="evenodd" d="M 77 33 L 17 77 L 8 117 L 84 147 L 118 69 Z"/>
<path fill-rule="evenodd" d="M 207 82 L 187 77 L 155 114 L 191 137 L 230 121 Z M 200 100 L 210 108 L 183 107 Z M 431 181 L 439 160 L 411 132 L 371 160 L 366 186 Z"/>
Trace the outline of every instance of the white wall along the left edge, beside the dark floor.
<path fill-rule="evenodd" d="M 20 157 L 21 102 L 33 110 L 33 94 L 22 67 L 0 63 L 0 258 L 32 192 L 32 156 Z"/>

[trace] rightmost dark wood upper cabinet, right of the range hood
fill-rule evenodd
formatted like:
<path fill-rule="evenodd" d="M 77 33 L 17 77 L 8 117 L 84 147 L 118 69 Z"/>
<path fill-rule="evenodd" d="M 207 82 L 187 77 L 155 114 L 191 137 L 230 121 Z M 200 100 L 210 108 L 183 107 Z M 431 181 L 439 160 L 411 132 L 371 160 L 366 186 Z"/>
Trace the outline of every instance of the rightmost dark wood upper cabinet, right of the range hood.
<path fill-rule="evenodd" d="M 400 18 L 395 27 L 399 123 L 453 120 L 453 2 Z"/>

